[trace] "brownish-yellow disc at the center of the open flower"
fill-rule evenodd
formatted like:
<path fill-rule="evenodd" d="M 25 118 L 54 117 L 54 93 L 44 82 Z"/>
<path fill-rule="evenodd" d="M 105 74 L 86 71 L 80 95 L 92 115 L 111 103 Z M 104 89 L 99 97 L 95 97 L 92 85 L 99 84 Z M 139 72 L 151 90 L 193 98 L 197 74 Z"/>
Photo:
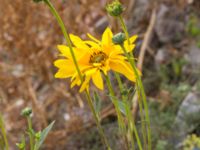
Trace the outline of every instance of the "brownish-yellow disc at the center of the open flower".
<path fill-rule="evenodd" d="M 90 56 L 90 63 L 104 63 L 105 60 L 108 58 L 108 56 L 102 52 L 94 52 L 91 56 Z"/>

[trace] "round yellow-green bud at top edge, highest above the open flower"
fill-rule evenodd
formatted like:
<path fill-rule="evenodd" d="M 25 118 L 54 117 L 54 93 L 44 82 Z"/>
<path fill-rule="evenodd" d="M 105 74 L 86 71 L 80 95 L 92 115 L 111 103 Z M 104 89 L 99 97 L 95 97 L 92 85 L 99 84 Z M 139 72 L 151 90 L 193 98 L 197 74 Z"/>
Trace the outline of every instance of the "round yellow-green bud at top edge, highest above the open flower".
<path fill-rule="evenodd" d="M 106 10 L 111 16 L 118 17 L 124 9 L 122 4 L 118 0 L 115 0 L 106 6 Z"/>

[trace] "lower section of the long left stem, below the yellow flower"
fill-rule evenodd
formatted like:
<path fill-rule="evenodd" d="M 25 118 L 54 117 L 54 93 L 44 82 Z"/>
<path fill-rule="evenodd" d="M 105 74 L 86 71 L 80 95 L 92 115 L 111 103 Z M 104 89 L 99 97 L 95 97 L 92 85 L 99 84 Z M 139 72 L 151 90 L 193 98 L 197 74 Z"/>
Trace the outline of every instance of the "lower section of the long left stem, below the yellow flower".
<path fill-rule="evenodd" d="M 109 145 L 109 143 L 108 143 L 108 140 L 107 140 L 107 138 L 106 138 L 106 136 L 105 136 L 105 134 L 104 134 L 104 132 L 103 132 L 103 129 L 102 129 L 102 127 L 101 127 L 101 124 L 100 124 L 100 121 L 99 121 L 99 119 L 98 119 L 97 113 L 96 113 L 96 111 L 95 111 L 95 109 L 94 109 L 94 105 L 93 105 L 93 103 L 92 103 L 92 99 L 91 99 L 91 97 L 90 97 L 90 94 L 89 94 L 89 92 L 88 92 L 87 90 L 86 90 L 85 93 L 86 93 L 88 105 L 89 105 L 89 107 L 90 107 L 90 110 L 92 111 L 92 114 L 93 114 L 93 116 L 94 116 L 95 122 L 96 122 L 96 124 L 97 124 L 97 128 L 98 128 L 99 134 L 100 134 L 100 136 L 101 136 L 101 139 L 103 140 L 103 143 L 106 145 L 107 149 L 108 149 L 108 150 L 111 150 L 110 145 Z"/>

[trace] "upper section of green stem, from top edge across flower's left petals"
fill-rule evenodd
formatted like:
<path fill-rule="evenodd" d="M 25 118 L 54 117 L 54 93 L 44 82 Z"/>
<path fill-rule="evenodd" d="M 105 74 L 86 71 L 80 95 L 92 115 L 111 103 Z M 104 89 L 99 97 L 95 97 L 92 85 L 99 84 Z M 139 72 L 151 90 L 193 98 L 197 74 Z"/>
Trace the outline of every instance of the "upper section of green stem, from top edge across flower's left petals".
<path fill-rule="evenodd" d="M 68 32 L 67 32 L 67 30 L 66 30 L 66 28 L 65 28 L 65 25 L 64 25 L 64 23 L 63 23 L 61 17 L 59 16 L 58 12 L 56 11 L 56 9 L 55 9 L 54 6 L 51 4 L 51 2 L 50 2 L 49 0 L 44 0 L 44 2 L 49 6 L 49 8 L 50 8 L 52 14 L 56 17 L 57 22 L 58 22 L 58 24 L 60 25 L 60 28 L 61 28 L 61 30 L 62 30 L 62 32 L 63 32 L 64 37 L 65 37 L 65 40 L 66 40 L 66 42 L 67 42 L 67 44 L 68 44 L 68 46 L 69 46 L 69 50 L 70 50 L 70 53 L 71 53 L 73 62 L 74 62 L 74 64 L 75 64 L 76 70 L 77 70 L 77 72 L 78 72 L 78 75 L 79 75 L 81 81 L 83 81 L 83 77 L 82 77 L 82 75 L 81 75 L 81 71 L 80 71 L 80 68 L 79 68 L 79 66 L 78 66 L 78 63 L 77 63 L 77 60 L 76 60 L 76 57 L 75 57 L 75 54 L 74 54 L 74 51 L 73 51 L 73 48 L 72 48 L 72 43 L 71 43 L 69 34 L 68 34 Z"/>

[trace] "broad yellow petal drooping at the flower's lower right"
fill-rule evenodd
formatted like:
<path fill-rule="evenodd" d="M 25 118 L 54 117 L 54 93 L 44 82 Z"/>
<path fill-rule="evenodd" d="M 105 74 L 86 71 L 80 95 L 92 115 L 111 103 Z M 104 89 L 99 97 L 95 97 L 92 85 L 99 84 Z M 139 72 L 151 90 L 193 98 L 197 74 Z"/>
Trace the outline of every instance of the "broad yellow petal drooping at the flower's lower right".
<path fill-rule="evenodd" d="M 131 65 L 128 62 L 111 60 L 110 67 L 112 70 L 126 76 L 129 80 L 131 80 L 133 82 L 136 81 L 135 74 L 132 71 Z"/>

